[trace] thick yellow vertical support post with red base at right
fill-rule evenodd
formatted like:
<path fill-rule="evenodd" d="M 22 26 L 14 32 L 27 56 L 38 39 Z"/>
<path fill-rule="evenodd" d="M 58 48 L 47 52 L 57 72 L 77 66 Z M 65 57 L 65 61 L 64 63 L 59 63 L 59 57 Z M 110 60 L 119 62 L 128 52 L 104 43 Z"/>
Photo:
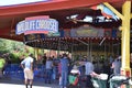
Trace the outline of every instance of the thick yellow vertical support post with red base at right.
<path fill-rule="evenodd" d="M 130 20 L 131 20 L 131 1 L 125 1 L 122 7 L 122 40 L 121 40 L 121 54 L 122 54 L 122 66 L 121 74 L 131 76 L 130 68 Z"/>

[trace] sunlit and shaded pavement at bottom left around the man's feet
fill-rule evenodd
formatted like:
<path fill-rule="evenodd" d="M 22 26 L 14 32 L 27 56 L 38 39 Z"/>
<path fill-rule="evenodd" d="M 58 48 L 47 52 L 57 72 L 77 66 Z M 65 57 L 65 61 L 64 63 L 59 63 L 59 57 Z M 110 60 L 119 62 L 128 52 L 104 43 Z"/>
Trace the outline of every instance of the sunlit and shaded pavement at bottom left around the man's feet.
<path fill-rule="evenodd" d="M 23 80 L 2 78 L 0 79 L 0 88 L 25 88 Z M 44 84 L 44 81 L 34 81 L 33 88 L 59 88 L 57 81 L 54 84 Z"/>

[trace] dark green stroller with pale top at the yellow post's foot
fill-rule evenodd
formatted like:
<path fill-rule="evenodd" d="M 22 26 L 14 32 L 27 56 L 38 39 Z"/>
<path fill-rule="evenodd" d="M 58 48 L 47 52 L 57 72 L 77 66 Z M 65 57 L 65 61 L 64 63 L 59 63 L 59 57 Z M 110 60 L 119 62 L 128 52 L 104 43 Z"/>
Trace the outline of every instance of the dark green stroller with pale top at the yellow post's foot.
<path fill-rule="evenodd" d="M 129 84 L 124 82 L 127 81 L 125 76 L 113 76 L 112 78 L 110 78 L 109 81 L 110 81 L 110 88 L 118 88 L 121 85 L 125 85 L 127 86 L 125 88 L 130 88 Z"/>

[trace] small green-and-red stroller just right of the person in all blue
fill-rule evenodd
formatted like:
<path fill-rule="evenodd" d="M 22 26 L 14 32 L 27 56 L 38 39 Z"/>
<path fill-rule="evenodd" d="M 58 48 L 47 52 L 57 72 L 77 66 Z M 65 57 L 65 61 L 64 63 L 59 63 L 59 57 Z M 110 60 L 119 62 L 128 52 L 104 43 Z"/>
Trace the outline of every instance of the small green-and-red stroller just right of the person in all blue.
<path fill-rule="evenodd" d="M 68 88 L 80 88 L 79 75 L 80 75 L 80 73 L 79 73 L 77 66 L 74 66 L 68 76 L 68 81 L 69 81 Z"/>

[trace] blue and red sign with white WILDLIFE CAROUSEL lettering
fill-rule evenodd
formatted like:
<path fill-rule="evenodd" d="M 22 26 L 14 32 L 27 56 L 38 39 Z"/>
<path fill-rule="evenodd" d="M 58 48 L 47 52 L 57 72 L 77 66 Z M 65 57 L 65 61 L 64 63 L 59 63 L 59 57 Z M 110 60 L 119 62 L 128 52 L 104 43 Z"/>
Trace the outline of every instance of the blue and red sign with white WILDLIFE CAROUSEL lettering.
<path fill-rule="evenodd" d="M 50 19 L 48 16 L 33 16 L 26 18 L 16 24 L 16 34 L 33 34 L 33 33 L 44 33 L 58 32 L 58 22 L 55 19 Z"/>

